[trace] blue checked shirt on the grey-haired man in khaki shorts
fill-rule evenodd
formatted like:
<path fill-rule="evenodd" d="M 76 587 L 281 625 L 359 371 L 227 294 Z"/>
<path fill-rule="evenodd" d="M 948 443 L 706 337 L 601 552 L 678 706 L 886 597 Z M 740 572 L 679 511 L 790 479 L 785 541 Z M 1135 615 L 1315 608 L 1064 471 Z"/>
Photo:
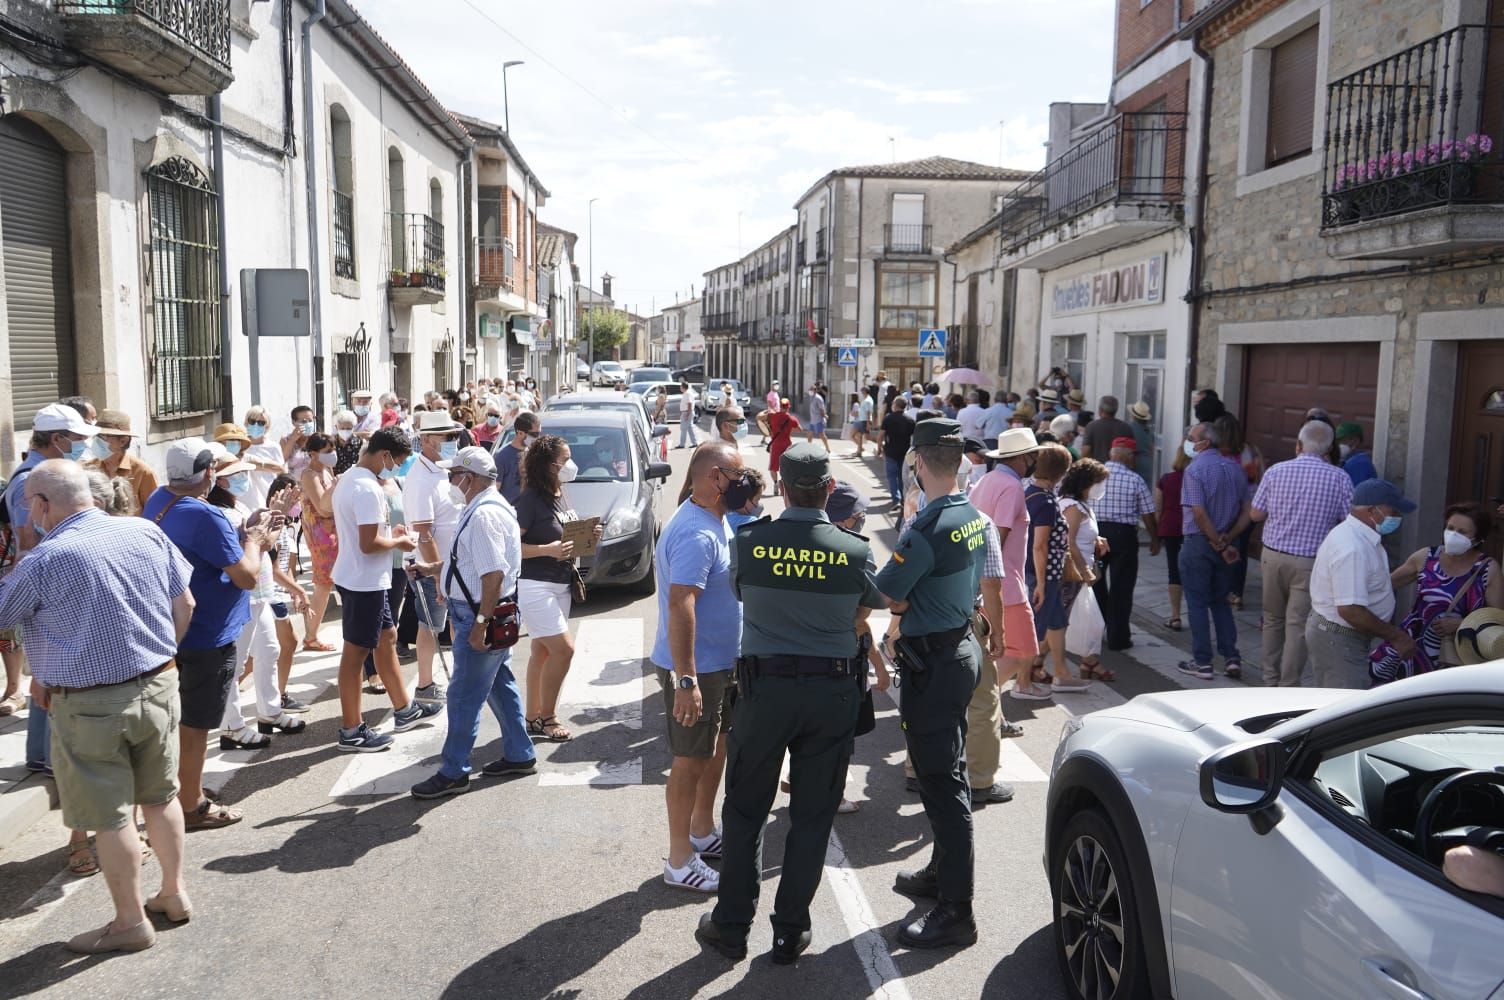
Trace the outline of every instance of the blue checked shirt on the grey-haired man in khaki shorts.
<path fill-rule="evenodd" d="M 0 629 L 21 626 L 32 672 L 47 687 L 120 684 L 173 659 L 173 600 L 191 574 L 152 522 L 89 508 L 0 580 Z"/>

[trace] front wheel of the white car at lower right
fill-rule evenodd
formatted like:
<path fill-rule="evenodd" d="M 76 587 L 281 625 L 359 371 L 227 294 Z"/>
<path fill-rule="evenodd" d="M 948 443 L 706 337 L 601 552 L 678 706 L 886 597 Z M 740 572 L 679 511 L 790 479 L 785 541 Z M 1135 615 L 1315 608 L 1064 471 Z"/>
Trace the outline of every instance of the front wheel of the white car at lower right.
<path fill-rule="evenodd" d="M 1133 877 L 1101 811 L 1071 817 L 1051 853 L 1050 881 L 1066 992 L 1077 1000 L 1149 995 Z"/>

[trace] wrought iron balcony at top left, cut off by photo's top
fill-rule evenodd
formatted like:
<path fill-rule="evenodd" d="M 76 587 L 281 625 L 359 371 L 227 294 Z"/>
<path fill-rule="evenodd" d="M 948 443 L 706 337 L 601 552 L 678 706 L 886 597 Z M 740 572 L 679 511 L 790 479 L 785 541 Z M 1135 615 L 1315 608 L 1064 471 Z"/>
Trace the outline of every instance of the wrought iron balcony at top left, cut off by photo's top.
<path fill-rule="evenodd" d="M 68 42 L 162 93 L 220 93 L 230 72 L 229 0 L 59 0 Z"/>

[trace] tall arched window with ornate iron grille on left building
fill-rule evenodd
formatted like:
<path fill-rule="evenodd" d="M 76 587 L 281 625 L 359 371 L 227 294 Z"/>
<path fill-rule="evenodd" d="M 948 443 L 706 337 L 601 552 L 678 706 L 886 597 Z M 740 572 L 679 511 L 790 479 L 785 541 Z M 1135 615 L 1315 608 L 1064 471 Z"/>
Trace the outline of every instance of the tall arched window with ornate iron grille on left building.
<path fill-rule="evenodd" d="M 220 409 L 220 195 L 180 156 L 146 171 L 155 417 Z"/>

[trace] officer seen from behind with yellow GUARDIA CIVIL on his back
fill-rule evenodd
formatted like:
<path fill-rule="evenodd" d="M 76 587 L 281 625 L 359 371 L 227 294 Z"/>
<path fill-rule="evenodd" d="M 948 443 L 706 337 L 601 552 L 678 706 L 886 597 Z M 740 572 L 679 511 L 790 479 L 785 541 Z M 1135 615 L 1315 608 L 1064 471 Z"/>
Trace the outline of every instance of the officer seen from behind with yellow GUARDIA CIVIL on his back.
<path fill-rule="evenodd" d="M 778 465 L 788 507 L 743 525 L 731 547 L 741 600 L 737 704 L 720 812 L 720 899 L 695 937 L 731 959 L 746 956 L 763 877 L 763 830 L 790 755 L 790 832 L 773 901 L 773 961 L 809 947 L 809 902 L 820 887 L 830 824 L 845 788 L 866 678 L 859 642 L 872 608 L 871 549 L 826 516 L 835 489 L 830 456 L 796 444 Z"/>

